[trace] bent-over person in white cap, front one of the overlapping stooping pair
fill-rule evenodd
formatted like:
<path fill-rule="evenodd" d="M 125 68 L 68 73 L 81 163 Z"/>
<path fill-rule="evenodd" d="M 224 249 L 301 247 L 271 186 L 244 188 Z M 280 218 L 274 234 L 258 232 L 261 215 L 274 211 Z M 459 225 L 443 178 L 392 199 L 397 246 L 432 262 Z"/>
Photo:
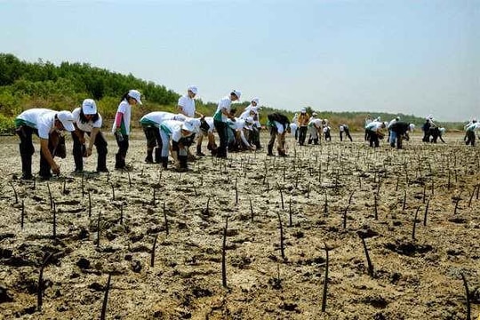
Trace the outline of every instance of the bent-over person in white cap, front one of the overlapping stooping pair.
<path fill-rule="evenodd" d="M 180 172 L 188 170 L 188 146 L 184 145 L 184 141 L 193 134 L 194 130 L 195 125 L 188 120 L 185 122 L 166 120 L 160 125 L 160 136 L 162 137 L 161 162 L 164 169 L 168 166 L 170 149 L 175 168 Z"/>

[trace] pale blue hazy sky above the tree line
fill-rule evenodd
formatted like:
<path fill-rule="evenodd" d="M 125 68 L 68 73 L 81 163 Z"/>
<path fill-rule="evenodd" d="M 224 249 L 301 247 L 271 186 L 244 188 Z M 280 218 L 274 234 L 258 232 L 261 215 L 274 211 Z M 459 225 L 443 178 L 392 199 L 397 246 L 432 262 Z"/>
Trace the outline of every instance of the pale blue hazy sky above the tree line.
<path fill-rule="evenodd" d="M 480 0 L 0 0 L 0 52 L 217 102 L 480 116 Z M 148 99 L 148 97 L 147 97 Z"/>

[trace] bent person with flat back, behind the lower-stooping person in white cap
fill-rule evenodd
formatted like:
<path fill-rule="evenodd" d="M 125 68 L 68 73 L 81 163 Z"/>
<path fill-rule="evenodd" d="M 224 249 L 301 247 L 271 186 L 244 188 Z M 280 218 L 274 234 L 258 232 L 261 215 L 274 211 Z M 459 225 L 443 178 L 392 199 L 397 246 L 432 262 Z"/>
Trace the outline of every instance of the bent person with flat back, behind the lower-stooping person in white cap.
<path fill-rule="evenodd" d="M 183 114 L 174 114 L 166 111 L 153 111 L 140 118 L 140 124 L 147 139 L 147 164 L 154 163 L 153 152 L 155 148 L 155 163 L 160 164 L 162 154 L 162 138 L 160 137 L 160 124 L 166 120 L 185 121 L 187 119 Z"/>

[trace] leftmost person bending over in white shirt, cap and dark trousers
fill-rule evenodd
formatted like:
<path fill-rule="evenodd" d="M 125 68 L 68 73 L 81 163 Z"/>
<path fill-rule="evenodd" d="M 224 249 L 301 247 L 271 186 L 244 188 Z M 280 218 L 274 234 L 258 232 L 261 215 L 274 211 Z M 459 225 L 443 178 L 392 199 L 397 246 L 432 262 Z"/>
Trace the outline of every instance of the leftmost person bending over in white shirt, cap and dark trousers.
<path fill-rule="evenodd" d="M 40 178 L 49 180 L 52 172 L 60 174 L 60 166 L 53 160 L 55 155 L 64 157 L 60 132 L 75 130 L 70 111 L 53 111 L 44 108 L 31 108 L 15 119 L 16 132 L 20 137 L 21 179 L 32 179 L 32 156 L 35 148 L 32 134 L 40 138 Z M 61 151 L 61 152 L 60 152 Z M 61 154 L 63 155 L 61 155 Z M 52 170 L 52 172 L 51 172 Z"/>

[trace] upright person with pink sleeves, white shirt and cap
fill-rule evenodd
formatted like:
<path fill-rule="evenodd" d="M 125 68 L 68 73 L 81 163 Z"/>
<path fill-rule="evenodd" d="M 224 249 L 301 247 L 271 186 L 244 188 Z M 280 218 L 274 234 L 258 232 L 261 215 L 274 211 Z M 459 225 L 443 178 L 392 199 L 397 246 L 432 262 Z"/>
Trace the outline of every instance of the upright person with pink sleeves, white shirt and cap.
<path fill-rule="evenodd" d="M 115 169 L 128 169 L 125 164 L 125 157 L 129 146 L 130 136 L 130 121 L 132 116 L 132 106 L 142 104 L 140 100 L 140 92 L 137 90 L 130 90 L 126 92 L 120 104 L 116 109 L 116 116 L 112 126 L 112 132 L 115 134 L 116 144 L 118 145 L 118 152 L 115 157 Z"/>

